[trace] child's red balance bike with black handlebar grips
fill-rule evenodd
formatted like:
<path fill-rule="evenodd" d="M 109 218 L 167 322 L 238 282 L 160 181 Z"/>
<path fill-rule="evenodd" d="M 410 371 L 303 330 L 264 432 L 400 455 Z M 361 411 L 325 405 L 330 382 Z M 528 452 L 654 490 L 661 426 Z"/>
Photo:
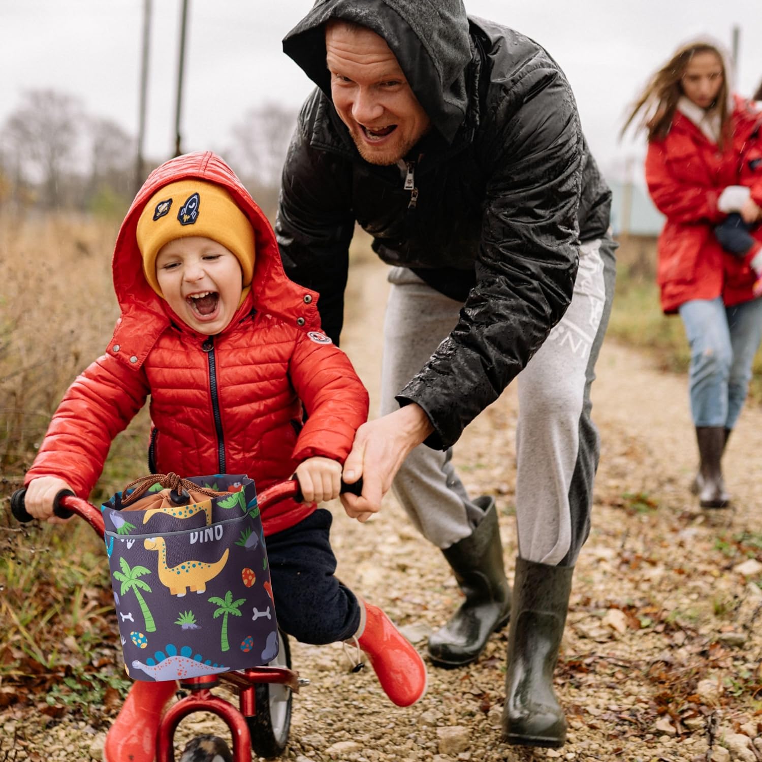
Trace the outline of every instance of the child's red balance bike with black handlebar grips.
<path fill-rule="evenodd" d="M 360 482 L 354 485 L 342 483 L 342 491 L 359 495 L 361 489 Z M 33 520 L 24 506 L 25 493 L 26 490 L 20 489 L 11 497 L 11 512 L 21 522 Z M 258 505 L 264 511 L 287 498 L 299 499 L 296 480 L 265 489 L 258 495 Z M 56 495 L 53 512 L 60 518 L 69 518 L 72 514 L 82 517 L 101 539 L 104 538 L 101 510 L 68 490 Z M 174 732 L 181 720 L 193 712 L 212 712 L 223 719 L 230 729 L 232 752 L 222 738 L 205 735 L 186 744 L 180 762 L 251 762 L 252 751 L 258 757 L 277 757 L 283 752 L 291 725 L 293 693 L 309 685 L 309 680 L 299 677 L 299 673 L 291 669 L 286 634 L 278 630 L 278 639 L 277 657 L 264 666 L 181 680 L 180 687 L 188 694 L 162 716 L 156 738 L 157 762 L 174 762 Z M 212 693 L 212 689 L 220 684 L 238 693 L 239 706 Z"/>

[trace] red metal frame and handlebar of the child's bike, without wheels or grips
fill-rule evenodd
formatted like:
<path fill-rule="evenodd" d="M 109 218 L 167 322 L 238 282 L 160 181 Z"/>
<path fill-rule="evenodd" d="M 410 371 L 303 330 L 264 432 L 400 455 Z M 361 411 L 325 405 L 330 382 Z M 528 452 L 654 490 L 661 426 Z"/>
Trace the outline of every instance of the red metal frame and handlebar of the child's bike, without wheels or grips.
<path fill-rule="evenodd" d="M 299 484 L 296 480 L 290 480 L 263 490 L 257 496 L 257 503 L 260 511 L 264 511 L 274 503 L 297 495 Z M 71 495 L 60 498 L 59 504 L 85 519 L 104 539 L 105 527 L 100 508 Z M 239 691 L 239 706 L 213 695 L 211 689 L 220 683 Z M 181 720 L 193 712 L 212 712 L 222 719 L 230 730 L 233 762 L 251 762 L 251 735 L 246 718 L 256 715 L 255 686 L 258 683 L 287 685 L 294 693 L 299 693 L 299 686 L 303 684 L 299 681 L 298 672 L 280 667 L 256 667 L 183 680 L 181 687 L 190 690 L 191 695 L 179 700 L 162 716 L 156 736 L 157 762 L 174 762 L 174 732 Z"/>

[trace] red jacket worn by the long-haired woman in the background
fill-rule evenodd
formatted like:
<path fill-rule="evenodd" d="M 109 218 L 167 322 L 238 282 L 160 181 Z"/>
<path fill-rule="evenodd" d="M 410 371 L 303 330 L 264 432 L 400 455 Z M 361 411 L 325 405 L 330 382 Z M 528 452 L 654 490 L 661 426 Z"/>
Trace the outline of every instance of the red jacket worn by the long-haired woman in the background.
<path fill-rule="evenodd" d="M 645 179 L 654 203 L 667 216 L 658 241 L 661 309 L 677 312 L 690 299 L 716 299 L 727 305 L 752 299 L 754 273 L 717 242 L 713 227 L 725 219 L 717 200 L 728 185 L 741 184 L 741 167 L 754 139 L 757 114 L 737 99 L 732 113 L 732 141 L 717 146 L 684 114 L 674 116 L 668 136 L 648 145 Z M 755 189 L 753 194 L 762 192 Z M 762 205 L 762 197 L 757 198 Z M 762 240 L 757 230 L 754 234 Z"/>

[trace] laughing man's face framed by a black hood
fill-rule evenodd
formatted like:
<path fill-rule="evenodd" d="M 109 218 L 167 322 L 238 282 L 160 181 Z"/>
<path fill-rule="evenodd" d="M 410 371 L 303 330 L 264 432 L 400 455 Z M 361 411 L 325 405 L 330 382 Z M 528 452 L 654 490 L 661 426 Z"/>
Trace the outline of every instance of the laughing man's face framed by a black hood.
<path fill-rule="evenodd" d="M 331 96 L 357 150 L 371 164 L 396 164 L 431 126 L 383 37 L 328 24 Z"/>

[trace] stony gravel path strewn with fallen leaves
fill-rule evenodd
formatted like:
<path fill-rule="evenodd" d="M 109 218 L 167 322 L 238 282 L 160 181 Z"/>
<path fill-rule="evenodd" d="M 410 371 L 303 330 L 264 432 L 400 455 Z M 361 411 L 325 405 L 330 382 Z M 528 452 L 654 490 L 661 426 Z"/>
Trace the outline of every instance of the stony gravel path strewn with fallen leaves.
<path fill-rule="evenodd" d="M 353 268 L 350 286 L 363 314 L 344 331 L 344 348 L 375 402 L 383 278 L 373 261 Z M 685 380 L 608 341 L 593 400 L 602 437 L 594 526 L 575 571 L 556 671 L 570 725 L 566 746 L 522 751 L 501 743 L 506 631 L 493 636 L 469 668 L 430 667 L 427 695 L 411 709 L 392 706 L 373 671 L 349 673 L 341 646 L 293 643 L 294 664 L 312 685 L 295 697 L 287 759 L 762 760 L 754 714 L 762 712 L 754 700 L 762 684 L 762 590 L 754 584 L 762 565 L 747 560 L 762 559 L 754 468 L 762 452 L 762 411 L 744 411 L 728 447 L 735 507 L 707 514 L 687 492 L 696 447 Z M 509 389 L 456 447 L 466 486 L 497 498 L 509 577 L 516 555 L 516 417 Z M 442 555 L 416 535 L 391 496 L 367 524 L 332 508 L 338 574 L 384 607 L 424 651 L 427 633 L 459 601 Z M 21 725 L 24 719 L 0 714 L 0 760 Z M 207 731 L 210 722 L 191 718 L 183 727 Z M 24 732 L 29 750 L 42 752 L 37 758 L 99 758 L 103 734 L 82 723 L 64 718 L 43 729 L 30 722 Z M 5 757 L 27 758 L 36 757 L 18 745 Z"/>

